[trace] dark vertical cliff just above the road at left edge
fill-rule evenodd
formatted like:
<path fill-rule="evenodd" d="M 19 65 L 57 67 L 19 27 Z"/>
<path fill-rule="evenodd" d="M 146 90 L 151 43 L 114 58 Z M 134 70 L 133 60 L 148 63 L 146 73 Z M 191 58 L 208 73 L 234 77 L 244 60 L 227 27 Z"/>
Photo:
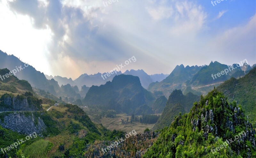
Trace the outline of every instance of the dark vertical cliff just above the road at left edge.
<path fill-rule="evenodd" d="M 41 111 L 41 101 L 35 97 L 4 94 L 0 99 L 0 111 Z"/>

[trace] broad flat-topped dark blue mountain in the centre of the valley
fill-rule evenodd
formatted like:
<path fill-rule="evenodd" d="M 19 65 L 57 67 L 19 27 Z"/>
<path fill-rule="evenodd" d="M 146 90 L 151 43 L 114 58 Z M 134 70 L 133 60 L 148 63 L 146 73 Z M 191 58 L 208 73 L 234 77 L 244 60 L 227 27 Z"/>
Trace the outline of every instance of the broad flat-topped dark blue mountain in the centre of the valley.
<path fill-rule="evenodd" d="M 141 105 L 154 101 L 137 76 L 118 75 L 105 85 L 92 86 L 84 98 L 84 104 L 105 110 L 132 113 Z"/>

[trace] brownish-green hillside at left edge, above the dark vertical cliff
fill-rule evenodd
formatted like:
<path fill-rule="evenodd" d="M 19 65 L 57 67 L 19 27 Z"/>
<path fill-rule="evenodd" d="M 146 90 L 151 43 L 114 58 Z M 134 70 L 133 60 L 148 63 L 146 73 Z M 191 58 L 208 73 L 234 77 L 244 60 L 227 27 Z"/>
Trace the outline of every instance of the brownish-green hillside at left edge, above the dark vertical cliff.
<path fill-rule="evenodd" d="M 9 75 L 10 72 L 7 68 L 0 69 L 0 90 L 21 94 L 25 92 L 34 93 L 28 81 L 19 80 L 12 74 Z M 6 74 L 8 75 L 6 76 Z"/>

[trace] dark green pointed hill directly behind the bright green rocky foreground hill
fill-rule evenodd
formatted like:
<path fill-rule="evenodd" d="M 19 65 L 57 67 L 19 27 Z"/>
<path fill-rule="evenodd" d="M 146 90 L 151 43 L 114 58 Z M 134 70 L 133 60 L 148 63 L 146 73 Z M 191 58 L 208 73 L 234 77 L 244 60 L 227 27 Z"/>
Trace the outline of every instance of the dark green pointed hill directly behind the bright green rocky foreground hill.
<path fill-rule="evenodd" d="M 189 112 L 193 107 L 193 103 L 199 101 L 200 97 L 188 92 L 185 96 L 181 90 L 174 90 L 169 96 L 164 111 L 152 130 L 162 129 L 165 126 L 170 126 L 172 119 L 179 113 L 184 114 Z"/>

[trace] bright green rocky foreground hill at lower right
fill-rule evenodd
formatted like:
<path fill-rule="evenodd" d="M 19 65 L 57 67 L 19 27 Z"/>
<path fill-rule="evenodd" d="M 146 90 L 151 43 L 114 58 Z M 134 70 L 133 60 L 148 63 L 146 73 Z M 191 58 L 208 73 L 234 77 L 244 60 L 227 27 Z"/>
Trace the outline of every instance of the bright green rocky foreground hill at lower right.
<path fill-rule="evenodd" d="M 144 158 L 256 157 L 256 135 L 244 111 L 216 90 L 161 131 Z M 226 142 L 225 142 L 226 141 Z"/>

